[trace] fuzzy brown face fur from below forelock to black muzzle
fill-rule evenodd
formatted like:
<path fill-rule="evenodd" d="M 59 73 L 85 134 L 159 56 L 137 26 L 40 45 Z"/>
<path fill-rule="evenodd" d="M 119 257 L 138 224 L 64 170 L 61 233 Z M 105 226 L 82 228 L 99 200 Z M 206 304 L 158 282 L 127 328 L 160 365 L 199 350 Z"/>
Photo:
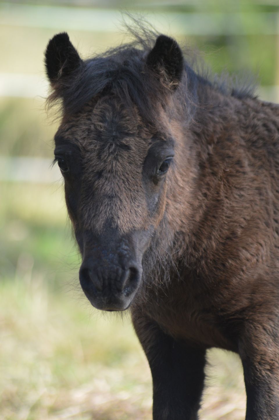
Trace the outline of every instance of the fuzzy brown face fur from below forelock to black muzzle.
<path fill-rule="evenodd" d="M 153 156 L 154 146 L 156 154 L 164 151 L 169 143 L 164 141 L 166 133 L 147 127 L 136 107 L 127 107 L 114 97 L 104 97 L 63 119 L 55 154 L 73 150 L 73 144 L 80 152 L 79 206 L 86 226 L 98 232 L 105 220 L 122 232 L 143 226 L 147 220 L 144 162 L 146 158 L 149 162 L 150 153 Z M 75 152 L 70 154 L 75 167 Z"/>

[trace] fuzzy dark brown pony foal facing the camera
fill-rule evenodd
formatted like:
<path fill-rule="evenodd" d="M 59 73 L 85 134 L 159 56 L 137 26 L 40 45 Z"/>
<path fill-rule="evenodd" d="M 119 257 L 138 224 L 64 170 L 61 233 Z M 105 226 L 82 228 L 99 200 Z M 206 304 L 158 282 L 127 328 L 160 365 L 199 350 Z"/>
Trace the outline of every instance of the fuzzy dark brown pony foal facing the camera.
<path fill-rule="evenodd" d="M 193 420 L 206 350 L 237 352 L 246 420 L 279 419 L 279 107 L 193 71 L 173 39 L 45 53 L 55 160 L 101 310 L 129 308 L 154 420 Z"/>

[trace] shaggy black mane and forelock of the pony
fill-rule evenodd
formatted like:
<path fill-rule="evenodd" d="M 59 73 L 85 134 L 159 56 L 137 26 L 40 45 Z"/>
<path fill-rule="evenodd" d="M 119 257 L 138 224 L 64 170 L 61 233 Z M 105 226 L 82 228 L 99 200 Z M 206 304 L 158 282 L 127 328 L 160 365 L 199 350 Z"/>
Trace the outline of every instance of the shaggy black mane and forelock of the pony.
<path fill-rule="evenodd" d="M 78 113 L 92 99 L 111 92 L 127 106 L 136 105 L 146 121 L 156 118 L 154 103 L 165 102 L 166 85 L 154 78 L 146 68 L 143 58 L 154 47 L 159 33 L 142 19 L 125 23 L 133 41 L 83 60 L 78 70 L 65 81 L 59 81 L 47 98 L 47 107 L 60 104 L 62 113 Z M 241 83 L 224 74 L 214 75 L 205 66 L 198 65 L 193 51 L 182 48 L 184 60 L 183 79 L 177 92 L 181 98 L 184 116 L 193 116 L 198 104 L 197 87 L 209 85 L 222 94 L 240 99 L 255 97 L 253 81 Z M 196 68 L 194 70 L 193 68 Z M 187 118 L 186 118 L 187 119 Z"/>

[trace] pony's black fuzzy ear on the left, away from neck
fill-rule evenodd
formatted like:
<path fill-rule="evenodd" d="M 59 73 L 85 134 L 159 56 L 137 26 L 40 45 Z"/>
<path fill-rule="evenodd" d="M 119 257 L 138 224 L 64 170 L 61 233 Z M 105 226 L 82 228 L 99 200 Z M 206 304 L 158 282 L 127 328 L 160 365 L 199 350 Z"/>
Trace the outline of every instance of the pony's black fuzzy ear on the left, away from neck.
<path fill-rule="evenodd" d="M 44 63 L 51 84 L 70 76 L 81 62 L 66 32 L 55 35 L 48 43 L 44 53 Z"/>

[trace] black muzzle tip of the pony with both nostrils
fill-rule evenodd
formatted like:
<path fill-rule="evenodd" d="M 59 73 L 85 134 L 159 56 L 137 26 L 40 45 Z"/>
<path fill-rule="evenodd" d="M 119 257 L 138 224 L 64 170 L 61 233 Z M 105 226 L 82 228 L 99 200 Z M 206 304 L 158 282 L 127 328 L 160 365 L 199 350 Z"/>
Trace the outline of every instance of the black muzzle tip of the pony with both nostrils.
<path fill-rule="evenodd" d="M 141 278 L 141 267 L 135 262 L 123 266 L 100 266 L 87 258 L 79 279 L 91 304 L 101 310 L 125 310 L 130 305 Z"/>

